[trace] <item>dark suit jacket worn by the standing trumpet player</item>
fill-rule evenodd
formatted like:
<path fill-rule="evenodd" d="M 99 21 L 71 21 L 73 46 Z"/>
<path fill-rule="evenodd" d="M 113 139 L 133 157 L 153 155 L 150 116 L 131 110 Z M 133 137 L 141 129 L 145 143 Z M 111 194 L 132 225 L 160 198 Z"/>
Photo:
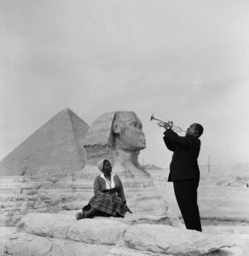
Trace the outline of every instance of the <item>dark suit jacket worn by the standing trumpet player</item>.
<path fill-rule="evenodd" d="M 173 151 L 168 181 L 195 179 L 200 181 L 198 156 L 200 153 L 200 139 L 191 135 L 180 137 L 176 132 L 165 131 L 165 145 Z"/>

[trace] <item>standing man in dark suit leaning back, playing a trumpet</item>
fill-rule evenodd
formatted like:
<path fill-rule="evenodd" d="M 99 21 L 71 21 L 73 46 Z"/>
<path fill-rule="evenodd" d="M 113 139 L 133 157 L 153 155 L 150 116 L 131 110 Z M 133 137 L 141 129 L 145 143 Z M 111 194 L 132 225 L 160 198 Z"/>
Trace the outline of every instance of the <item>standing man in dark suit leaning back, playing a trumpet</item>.
<path fill-rule="evenodd" d="M 190 125 L 185 137 L 172 131 L 172 125 L 164 123 L 165 145 L 173 151 L 169 182 L 173 182 L 177 204 L 188 230 L 201 232 L 200 212 L 197 204 L 197 189 L 200 182 L 198 156 L 203 127 L 194 123 Z"/>

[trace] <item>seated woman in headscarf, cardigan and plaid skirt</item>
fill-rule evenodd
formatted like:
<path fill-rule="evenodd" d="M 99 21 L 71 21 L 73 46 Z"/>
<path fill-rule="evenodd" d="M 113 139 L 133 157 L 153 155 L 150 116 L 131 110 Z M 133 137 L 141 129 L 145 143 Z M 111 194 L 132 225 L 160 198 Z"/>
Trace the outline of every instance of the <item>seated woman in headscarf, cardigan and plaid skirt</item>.
<path fill-rule="evenodd" d="M 89 204 L 83 207 L 82 212 L 76 214 L 76 218 L 93 218 L 94 216 L 125 217 L 125 212 L 130 212 L 126 206 L 123 185 L 118 175 L 112 173 L 112 165 L 109 160 L 100 160 L 98 168 L 102 172 L 94 182 L 95 195 Z"/>

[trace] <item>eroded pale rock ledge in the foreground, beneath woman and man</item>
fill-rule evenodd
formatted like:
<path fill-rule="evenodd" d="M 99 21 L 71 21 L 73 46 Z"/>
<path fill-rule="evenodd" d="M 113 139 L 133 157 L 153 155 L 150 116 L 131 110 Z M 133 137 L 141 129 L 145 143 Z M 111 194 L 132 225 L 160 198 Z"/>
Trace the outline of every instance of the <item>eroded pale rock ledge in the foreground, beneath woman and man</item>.
<path fill-rule="evenodd" d="M 235 246 L 228 236 L 170 225 L 127 224 L 125 218 L 73 217 L 32 212 L 20 220 L 17 230 L 1 227 L 0 234 L 8 234 L 1 239 L 1 255 L 194 256 Z"/>

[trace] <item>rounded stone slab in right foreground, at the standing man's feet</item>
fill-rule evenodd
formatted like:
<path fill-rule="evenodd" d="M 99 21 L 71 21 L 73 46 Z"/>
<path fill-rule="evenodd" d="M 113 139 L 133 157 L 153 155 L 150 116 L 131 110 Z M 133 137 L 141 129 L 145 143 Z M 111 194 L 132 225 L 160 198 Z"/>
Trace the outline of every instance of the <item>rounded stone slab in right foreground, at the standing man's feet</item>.
<path fill-rule="evenodd" d="M 235 243 L 225 241 L 222 236 L 203 234 L 194 230 L 183 230 L 171 226 L 136 224 L 125 233 L 128 247 L 173 255 L 201 255 Z"/>

